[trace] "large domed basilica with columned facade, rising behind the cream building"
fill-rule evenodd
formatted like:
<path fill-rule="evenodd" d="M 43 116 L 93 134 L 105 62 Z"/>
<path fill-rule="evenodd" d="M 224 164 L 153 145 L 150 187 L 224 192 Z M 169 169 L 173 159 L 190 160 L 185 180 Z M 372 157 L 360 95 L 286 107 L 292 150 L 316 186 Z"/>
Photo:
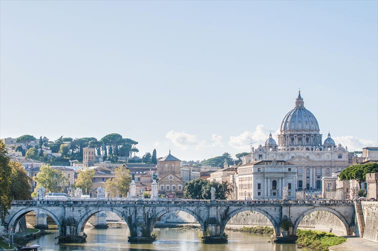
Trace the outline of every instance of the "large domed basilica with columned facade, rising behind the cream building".
<path fill-rule="evenodd" d="M 282 119 L 278 144 L 270 133 L 264 145 L 252 148 L 250 154 L 243 156 L 243 164 L 267 159 L 289 161 L 296 166 L 297 188 L 320 190 L 322 176 L 348 166 L 348 151 L 341 144 L 336 145 L 330 133 L 322 142 L 319 131 L 319 124 L 304 107 L 299 91 L 294 108 Z"/>

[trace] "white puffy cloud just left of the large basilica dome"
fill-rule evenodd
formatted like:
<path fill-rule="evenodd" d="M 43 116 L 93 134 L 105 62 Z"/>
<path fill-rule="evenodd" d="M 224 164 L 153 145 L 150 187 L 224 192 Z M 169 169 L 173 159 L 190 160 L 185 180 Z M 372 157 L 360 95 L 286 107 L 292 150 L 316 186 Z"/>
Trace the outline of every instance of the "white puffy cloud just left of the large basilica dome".
<path fill-rule="evenodd" d="M 273 138 L 276 140 L 276 134 L 278 130 L 267 129 L 263 124 L 256 126 L 254 131 L 244 131 L 237 136 L 229 136 L 228 144 L 239 150 L 249 151 L 250 139 L 253 138 L 254 142 L 252 145 L 256 146 L 258 144 L 264 144 L 265 140 L 269 137 L 271 132 Z"/>

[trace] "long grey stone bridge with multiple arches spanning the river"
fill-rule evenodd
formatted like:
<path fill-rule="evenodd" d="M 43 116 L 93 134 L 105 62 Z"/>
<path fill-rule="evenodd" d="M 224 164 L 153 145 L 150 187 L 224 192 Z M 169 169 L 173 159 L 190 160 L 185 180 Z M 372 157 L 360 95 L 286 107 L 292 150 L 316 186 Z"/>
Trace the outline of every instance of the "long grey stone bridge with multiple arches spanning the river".
<path fill-rule="evenodd" d="M 59 241 L 84 241 L 84 225 L 95 213 L 111 211 L 127 223 L 130 242 L 153 241 L 151 236 L 162 215 L 184 211 L 201 225 L 205 242 L 224 242 L 224 227 L 238 212 L 257 211 L 266 216 L 274 228 L 275 241 L 295 240 L 301 219 L 316 210 L 337 216 L 344 226 L 344 234 L 354 230 L 354 204 L 349 200 L 15 200 L 12 202 L 4 226 L 8 234 L 14 231 L 19 219 L 30 211 L 52 217 L 59 230 Z M 289 229 L 281 229 L 283 221 L 291 222 Z M 289 224 L 290 225 L 290 224 Z"/>

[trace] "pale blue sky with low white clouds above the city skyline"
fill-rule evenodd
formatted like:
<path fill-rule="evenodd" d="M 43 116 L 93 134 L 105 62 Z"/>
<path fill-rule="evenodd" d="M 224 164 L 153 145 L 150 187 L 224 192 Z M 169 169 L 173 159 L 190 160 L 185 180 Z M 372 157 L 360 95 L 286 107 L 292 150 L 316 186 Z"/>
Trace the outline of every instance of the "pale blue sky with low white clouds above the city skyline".
<path fill-rule="evenodd" d="M 298 88 L 378 143 L 378 1 L 0 1 L 0 138 L 116 132 L 201 160 L 276 138 Z"/>

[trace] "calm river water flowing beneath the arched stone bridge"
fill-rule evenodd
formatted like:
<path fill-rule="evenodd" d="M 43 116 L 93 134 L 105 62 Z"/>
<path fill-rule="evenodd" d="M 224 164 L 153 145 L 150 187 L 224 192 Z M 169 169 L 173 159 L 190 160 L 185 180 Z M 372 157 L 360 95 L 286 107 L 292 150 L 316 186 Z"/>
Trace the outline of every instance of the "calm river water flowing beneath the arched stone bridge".
<path fill-rule="evenodd" d="M 251 234 L 246 232 L 225 231 L 228 234 L 226 244 L 203 244 L 197 236 L 200 230 L 183 230 L 180 228 L 155 228 L 158 239 L 149 244 L 130 244 L 127 242 L 129 231 L 127 227 L 109 226 L 107 229 L 95 229 L 86 227 L 85 243 L 58 244 L 55 240 L 56 229 L 51 228 L 53 234 L 41 236 L 27 243 L 37 243 L 42 250 L 184 250 L 184 251 L 294 251 L 295 244 L 276 244 L 270 241 L 269 236 Z M 300 249 L 308 251 L 309 249 Z"/>

